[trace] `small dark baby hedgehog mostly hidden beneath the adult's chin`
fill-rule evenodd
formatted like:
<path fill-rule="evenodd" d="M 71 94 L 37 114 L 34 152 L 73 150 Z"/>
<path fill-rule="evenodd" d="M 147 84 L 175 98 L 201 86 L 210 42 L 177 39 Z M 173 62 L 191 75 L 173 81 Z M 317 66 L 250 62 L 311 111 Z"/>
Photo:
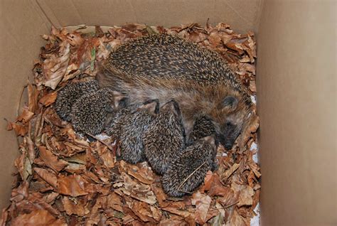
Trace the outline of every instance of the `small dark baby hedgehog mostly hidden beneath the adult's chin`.
<path fill-rule="evenodd" d="M 215 127 L 212 119 L 205 116 L 199 117 L 193 124 L 193 130 L 191 131 L 191 135 L 187 142 L 188 144 L 192 144 L 193 141 L 197 141 L 198 139 L 212 134 L 215 134 Z"/>

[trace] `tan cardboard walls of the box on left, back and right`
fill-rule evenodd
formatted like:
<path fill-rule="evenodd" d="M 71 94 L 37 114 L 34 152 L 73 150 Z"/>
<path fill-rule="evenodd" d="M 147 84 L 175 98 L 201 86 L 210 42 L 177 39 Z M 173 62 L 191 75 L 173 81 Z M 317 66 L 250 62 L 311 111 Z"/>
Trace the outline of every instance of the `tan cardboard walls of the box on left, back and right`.
<path fill-rule="evenodd" d="M 223 21 L 257 35 L 262 225 L 333 225 L 336 215 L 336 1 L 0 1 L 0 117 L 18 98 L 50 26 Z M 0 208 L 17 143 L 0 121 Z"/>

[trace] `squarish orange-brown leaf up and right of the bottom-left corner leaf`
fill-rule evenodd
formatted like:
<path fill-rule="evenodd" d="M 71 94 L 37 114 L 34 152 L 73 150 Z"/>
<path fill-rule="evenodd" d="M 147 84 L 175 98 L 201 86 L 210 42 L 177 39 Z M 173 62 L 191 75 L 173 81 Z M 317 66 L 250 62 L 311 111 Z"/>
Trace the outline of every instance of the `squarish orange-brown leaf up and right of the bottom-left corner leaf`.
<path fill-rule="evenodd" d="M 87 195 L 85 191 L 85 181 L 79 175 L 63 176 L 58 178 L 58 193 L 77 197 Z"/>

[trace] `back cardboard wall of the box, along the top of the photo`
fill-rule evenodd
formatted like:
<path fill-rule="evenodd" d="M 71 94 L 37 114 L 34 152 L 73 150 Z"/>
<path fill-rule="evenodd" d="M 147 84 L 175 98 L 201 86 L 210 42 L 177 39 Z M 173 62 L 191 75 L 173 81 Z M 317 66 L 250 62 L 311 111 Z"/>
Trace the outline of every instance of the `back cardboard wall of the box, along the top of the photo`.
<path fill-rule="evenodd" d="M 124 23 L 176 26 L 181 23 L 225 22 L 236 31 L 257 28 L 262 0 L 37 0 L 55 26 L 114 26 Z"/>

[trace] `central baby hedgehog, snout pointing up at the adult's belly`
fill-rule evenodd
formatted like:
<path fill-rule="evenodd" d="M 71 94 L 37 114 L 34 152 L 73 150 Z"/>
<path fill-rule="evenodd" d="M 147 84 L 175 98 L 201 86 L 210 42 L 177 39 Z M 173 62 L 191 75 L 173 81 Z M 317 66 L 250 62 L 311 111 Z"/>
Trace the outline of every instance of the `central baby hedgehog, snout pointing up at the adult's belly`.
<path fill-rule="evenodd" d="M 182 151 L 185 139 L 181 112 L 175 100 L 159 109 L 143 136 L 144 154 L 154 172 L 162 175 Z"/>

